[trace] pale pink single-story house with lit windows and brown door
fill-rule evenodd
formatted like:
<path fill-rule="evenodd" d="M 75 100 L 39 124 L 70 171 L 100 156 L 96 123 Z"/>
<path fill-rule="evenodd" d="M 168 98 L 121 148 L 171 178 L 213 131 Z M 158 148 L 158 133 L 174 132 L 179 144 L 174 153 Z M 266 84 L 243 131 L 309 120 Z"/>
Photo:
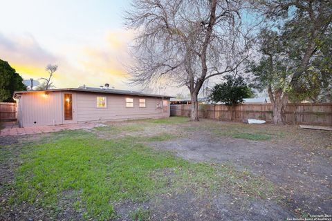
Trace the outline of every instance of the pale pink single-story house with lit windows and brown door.
<path fill-rule="evenodd" d="M 15 91 L 19 126 L 169 117 L 170 96 L 109 88 Z"/>

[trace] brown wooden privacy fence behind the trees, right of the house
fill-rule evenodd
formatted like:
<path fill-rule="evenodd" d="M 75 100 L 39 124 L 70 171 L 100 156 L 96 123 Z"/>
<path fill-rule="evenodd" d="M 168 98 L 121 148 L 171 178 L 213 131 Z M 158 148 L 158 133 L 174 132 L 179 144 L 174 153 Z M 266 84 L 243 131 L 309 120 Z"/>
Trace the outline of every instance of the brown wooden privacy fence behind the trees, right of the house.
<path fill-rule="evenodd" d="M 190 117 L 190 110 L 190 104 L 171 105 L 171 116 Z M 332 103 L 287 104 L 285 115 L 288 124 L 332 125 Z M 237 122 L 254 118 L 272 122 L 273 108 L 272 104 L 239 104 L 230 111 L 224 104 L 200 104 L 199 117 Z"/>

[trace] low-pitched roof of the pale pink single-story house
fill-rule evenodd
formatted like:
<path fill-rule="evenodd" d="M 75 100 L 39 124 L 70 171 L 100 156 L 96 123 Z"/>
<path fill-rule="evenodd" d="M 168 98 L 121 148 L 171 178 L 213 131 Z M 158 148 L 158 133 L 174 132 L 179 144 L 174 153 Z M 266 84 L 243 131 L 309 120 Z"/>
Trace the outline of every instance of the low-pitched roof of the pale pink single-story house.
<path fill-rule="evenodd" d="M 24 90 L 24 91 L 15 91 L 14 97 L 17 94 L 23 93 L 35 93 L 40 91 L 79 91 L 79 92 L 91 92 L 91 93 L 105 93 L 105 94 L 115 94 L 115 95 L 136 95 L 136 96 L 144 96 L 144 97 L 172 97 L 169 95 L 154 95 L 148 93 L 142 93 L 138 91 L 131 90 L 118 90 L 118 89 L 107 89 L 107 88 L 90 88 L 90 87 L 80 87 L 80 88 L 59 88 L 59 89 L 50 89 L 50 90 Z"/>

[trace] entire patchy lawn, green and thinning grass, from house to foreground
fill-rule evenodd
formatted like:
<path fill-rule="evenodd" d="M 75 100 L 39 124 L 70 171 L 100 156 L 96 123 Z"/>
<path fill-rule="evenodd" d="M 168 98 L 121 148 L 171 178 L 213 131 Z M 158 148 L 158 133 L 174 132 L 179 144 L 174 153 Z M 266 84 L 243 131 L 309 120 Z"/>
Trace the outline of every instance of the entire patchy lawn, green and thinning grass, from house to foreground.
<path fill-rule="evenodd" d="M 1 204 L 14 208 L 24 202 L 50 209 L 56 215 L 64 210 L 59 202 L 67 199 L 66 206 L 82 213 L 83 219 L 109 220 L 119 218 L 114 207 L 117 202 L 145 202 L 188 189 L 205 194 L 226 188 L 234 195 L 271 197 L 273 184 L 248 170 L 237 171 L 232 164 L 188 162 L 174 153 L 147 146 L 148 142 L 172 140 L 176 134 L 132 134 L 156 124 L 183 122 L 187 118 L 149 119 L 93 131 L 52 133 L 47 140 L 35 135 L 29 142 L 1 146 L 1 164 L 9 160 L 20 162 L 15 179 L 6 187 L 13 192 Z M 102 139 L 100 133 L 124 136 Z M 11 155 L 14 149 L 19 149 L 20 154 Z M 130 211 L 129 217 L 147 220 L 149 213 L 138 208 Z"/>

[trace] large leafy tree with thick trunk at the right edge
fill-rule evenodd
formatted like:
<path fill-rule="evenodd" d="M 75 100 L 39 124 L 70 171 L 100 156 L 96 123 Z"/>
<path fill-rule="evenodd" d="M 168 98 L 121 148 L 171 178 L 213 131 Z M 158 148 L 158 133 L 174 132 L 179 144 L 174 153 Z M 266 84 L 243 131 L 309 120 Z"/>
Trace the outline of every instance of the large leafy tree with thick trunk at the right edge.
<path fill-rule="evenodd" d="M 263 1 L 268 22 L 259 59 L 249 65 L 255 85 L 268 89 L 273 122 L 284 123 L 288 99 L 318 97 L 331 88 L 331 1 Z M 330 82 L 330 83 L 329 83 Z"/>

